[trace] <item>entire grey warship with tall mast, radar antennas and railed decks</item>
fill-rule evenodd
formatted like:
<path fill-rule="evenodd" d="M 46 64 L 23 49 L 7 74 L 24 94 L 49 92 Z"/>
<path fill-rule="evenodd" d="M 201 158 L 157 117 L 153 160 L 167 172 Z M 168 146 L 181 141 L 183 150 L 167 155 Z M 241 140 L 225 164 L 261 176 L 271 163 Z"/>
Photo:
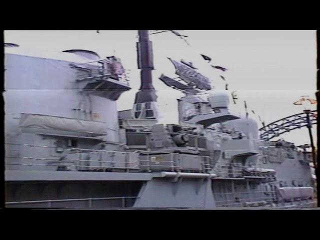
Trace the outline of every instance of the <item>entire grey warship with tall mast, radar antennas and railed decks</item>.
<path fill-rule="evenodd" d="M 279 207 L 314 201 L 311 152 L 260 137 L 229 96 L 185 61 L 164 74 L 179 124 L 159 124 L 152 44 L 138 31 L 140 89 L 116 56 L 79 63 L 5 54 L 5 206 L 71 208 Z M 65 54 L 92 52 L 80 49 Z M 93 56 L 92 59 L 95 59 Z M 63 71 L 52 67 L 62 65 Z M 67 70 L 65 70 L 67 69 Z"/>

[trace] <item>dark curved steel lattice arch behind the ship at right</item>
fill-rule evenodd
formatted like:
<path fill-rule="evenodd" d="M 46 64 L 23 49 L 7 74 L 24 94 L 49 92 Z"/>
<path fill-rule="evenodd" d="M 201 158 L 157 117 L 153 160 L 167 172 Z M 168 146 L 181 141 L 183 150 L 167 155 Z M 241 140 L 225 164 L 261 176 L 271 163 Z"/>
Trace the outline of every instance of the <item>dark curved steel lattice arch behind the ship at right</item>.
<path fill-rule="evenodd" d="M 260 139 L 270 140 L 273 137 L 277 137 L 285 132 L 292 131 L 296 128 L 301 128 L 308 125 L 307 114 L 310 117 L 310 124 L 317 123 L 317 111 L 313 110 L 309 113 L 301 112 L 291 116 L 284 117 L 282 119 L 273 121 L 264 127 L 259 129 Z"/>

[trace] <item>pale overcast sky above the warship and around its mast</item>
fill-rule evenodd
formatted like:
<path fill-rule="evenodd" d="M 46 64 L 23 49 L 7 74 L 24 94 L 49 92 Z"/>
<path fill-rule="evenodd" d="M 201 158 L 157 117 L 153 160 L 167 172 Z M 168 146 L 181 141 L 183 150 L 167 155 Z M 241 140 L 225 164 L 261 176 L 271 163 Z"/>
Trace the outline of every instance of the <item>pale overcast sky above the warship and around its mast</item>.
<path fill-rule="evenodd" d="M 137 31 L 135 30 L 9 30 L 4 32 L 5 42 L 19 44 L 6 48 L 7 52 L 48 58 L 69 57 L 61 53 L 67 49 L 87 49 L 101 57 L 115 55 L 121 58 L 124 68 L 130 69 L 131 90 L 121 95 L 118 110 L 132 107 L 134 94 L 139 87 L 139 70 L 136 63 Z M 176 77 L 167 57 L 192 61 L 199 71 L 209 77 L 217 90 L 225 82 L 230 91 L 236 90 L 239 100 L 230 103 L 230 110 L 245 115 L 246 100 L 250 117 L 258 121 L 260 115 L 270 123 L 301 112 L 301 106 L 292 103 L 301 95 L 315 99 L 316 89 L 316 38 L 315 30 L 183 30 L 188 46 L 171 32 L 150 35 L 153 45 L 155 70 L 152 73 L 158 95 L 160 122 L 177 123 L 176 99 L 183 94 L 162 83 L 161 73 Z M 214 70 L 199 55 L 212 58 L 211 64 L 226 67 Z M 316 109 L 315 104 L 311 106 Z M 261 124 L 259 123 L 259 127 Z M 316 139 L 316 127 L 313 125 Z M 309 143 L 306 128 L 281 135 L 295 144 Z M 276 139 L 276 138 L 275 138 Z"/>

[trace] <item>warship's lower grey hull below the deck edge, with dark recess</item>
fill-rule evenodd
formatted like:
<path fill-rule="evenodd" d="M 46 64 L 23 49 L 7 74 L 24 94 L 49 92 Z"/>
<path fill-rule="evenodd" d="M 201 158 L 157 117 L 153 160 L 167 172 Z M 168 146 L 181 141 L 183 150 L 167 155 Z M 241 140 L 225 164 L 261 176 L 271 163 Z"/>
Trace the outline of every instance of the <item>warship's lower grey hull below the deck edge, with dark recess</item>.
<path fill-rule="evenodd" d="M 315 205 L 312 199 L 279 202 L 274 191 L 262 189 L 252 178 L 211 179 L 187 177 L 187 174 L 184 178 L 164 175 L 163 172 L 8 170 L 5 174 L 5 206 L 224 209 Z"/>

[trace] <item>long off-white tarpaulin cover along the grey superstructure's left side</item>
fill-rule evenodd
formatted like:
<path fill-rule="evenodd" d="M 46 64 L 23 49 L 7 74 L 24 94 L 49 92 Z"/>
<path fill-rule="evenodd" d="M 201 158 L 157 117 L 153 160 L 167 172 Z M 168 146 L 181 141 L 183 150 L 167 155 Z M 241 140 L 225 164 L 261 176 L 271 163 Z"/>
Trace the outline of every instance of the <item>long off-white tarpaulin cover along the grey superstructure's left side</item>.
<path fill-rule="evenodd" d="M 21 113 L 20 127 L 42 128 L 61 131 L 106 134 L 106 123 L 101 121 L 79 120 L 75 118 L 50 116 L 34 113 Z"/>

